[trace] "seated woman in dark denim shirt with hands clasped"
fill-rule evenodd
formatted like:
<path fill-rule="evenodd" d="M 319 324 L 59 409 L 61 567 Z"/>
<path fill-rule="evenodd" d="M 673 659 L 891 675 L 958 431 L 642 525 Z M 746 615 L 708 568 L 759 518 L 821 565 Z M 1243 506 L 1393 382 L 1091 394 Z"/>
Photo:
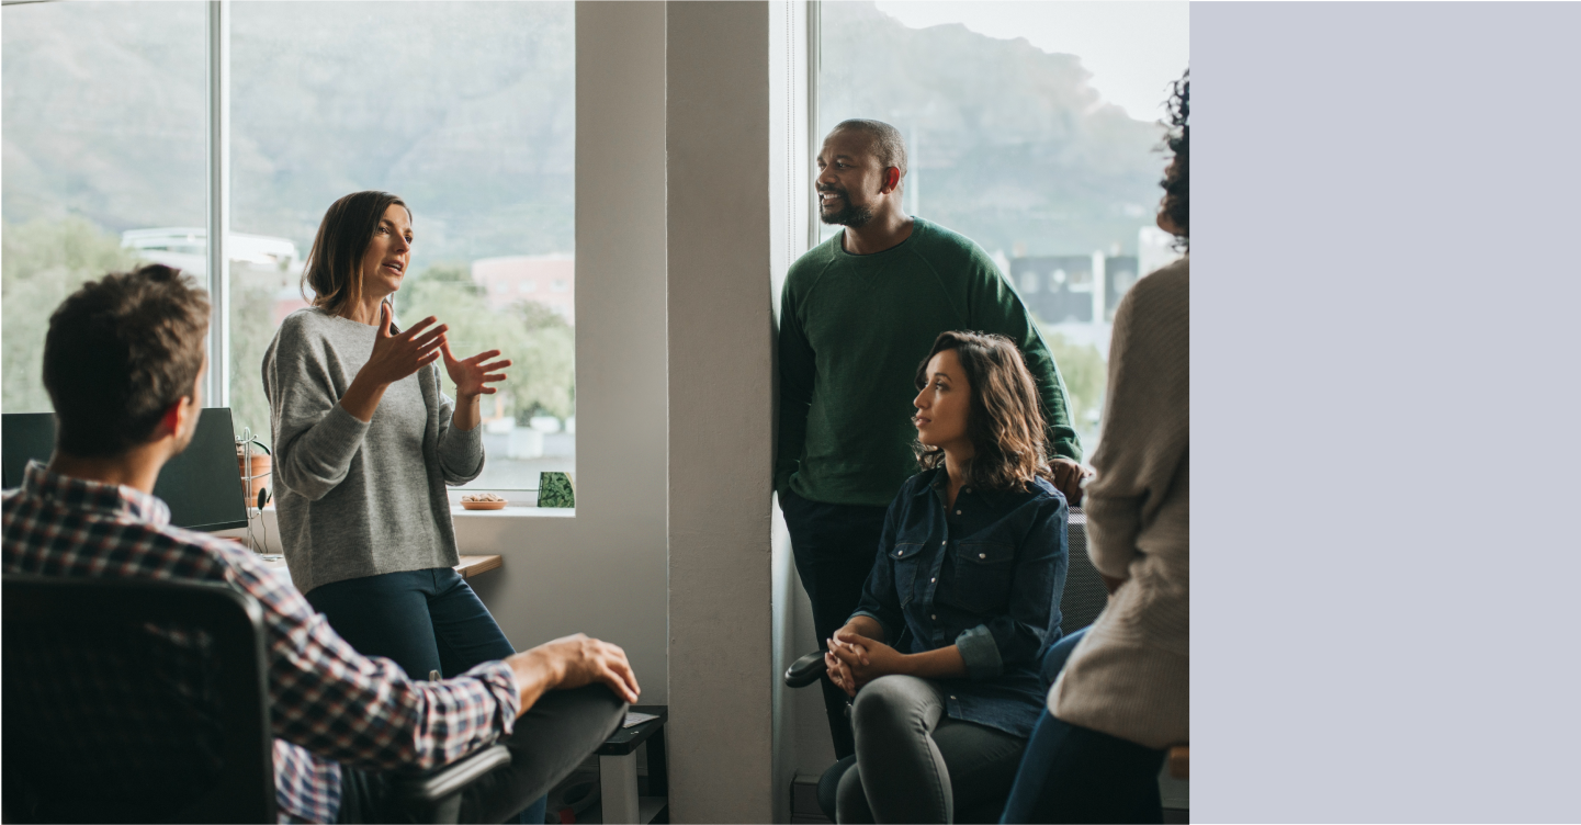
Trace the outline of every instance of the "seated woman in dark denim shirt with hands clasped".
<path fill-rule="evenodd" d="M 1059 639 L 1066 499 L 1032 376 L 999 335 L 945 332 L 917 371 L 917 455 L 830 680 L 855 697 L 838 820 L 939 823 L 1004 798 Z"/>

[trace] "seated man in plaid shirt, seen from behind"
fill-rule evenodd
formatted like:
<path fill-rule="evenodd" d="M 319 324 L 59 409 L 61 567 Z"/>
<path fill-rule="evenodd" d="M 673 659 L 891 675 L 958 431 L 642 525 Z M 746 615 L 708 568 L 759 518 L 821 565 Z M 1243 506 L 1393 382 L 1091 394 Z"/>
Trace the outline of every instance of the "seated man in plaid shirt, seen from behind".
<path fill-rule="evenodd" d="M 511 765 L 466 789 L 462 822 L 498 823 L 542 797 L 637 700 L 626 654 L 575 635 L 411 681 L 353 650 L 253 553 L 171 526 L 150 490 L 196 430 L 207 327 L 206 294 L 160 266 L 108 275 L 60 305 L 44 343 L 55 452 L 3 493 L 0 571 L 210 582 L 258 599 L 281 823 L 395 820 L 395 771 L 495 741 Z"/>

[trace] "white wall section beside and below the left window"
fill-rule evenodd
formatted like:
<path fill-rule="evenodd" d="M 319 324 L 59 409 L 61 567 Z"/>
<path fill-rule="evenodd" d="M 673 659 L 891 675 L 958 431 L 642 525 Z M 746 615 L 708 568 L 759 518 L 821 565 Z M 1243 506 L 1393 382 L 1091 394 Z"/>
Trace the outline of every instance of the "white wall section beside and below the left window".
<path fill-rule="evenodd" d="M 577 509 L 460 517 L 474 588 L 519 648 L 621 645 L 667 703 L 664 2 L 577 3 Z"/>

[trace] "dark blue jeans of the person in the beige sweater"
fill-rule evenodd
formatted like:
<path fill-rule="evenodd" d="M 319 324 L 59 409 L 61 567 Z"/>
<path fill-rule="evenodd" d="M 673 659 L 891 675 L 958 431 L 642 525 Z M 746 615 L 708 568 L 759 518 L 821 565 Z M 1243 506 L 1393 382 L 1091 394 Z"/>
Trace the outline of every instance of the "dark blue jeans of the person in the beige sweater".
<path fill-rule="evenodd" d="M 1043 654 L 1047 684 L 1053 684 L 1083 635 L 1086 627 Z M 1162 767 L 1164 751 L 1062 722 L 1043 708 L 999 825 L 1160 825 Z"/>

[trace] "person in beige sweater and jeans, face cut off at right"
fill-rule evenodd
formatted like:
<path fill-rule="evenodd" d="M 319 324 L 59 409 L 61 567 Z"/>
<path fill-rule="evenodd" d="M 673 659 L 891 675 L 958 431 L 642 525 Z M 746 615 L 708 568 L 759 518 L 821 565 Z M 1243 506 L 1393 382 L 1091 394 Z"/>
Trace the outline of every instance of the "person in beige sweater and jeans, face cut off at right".
<path fill-rule="evenodd" d="M 1159 209 L 1159 228 L 1183 247 L 1189 77 L 1170 100 L 1175 156 Z M 1045 656 L 1045 678 L 1058 678 L 1001 825 L 1159 823 L 1165 749 L 1190 738 L 1189 256 L 1137 281 L 1113 335 L 1104 438 L 1083 499 L 1088 555 L 1110 599 L 1091 627 Z"/>

